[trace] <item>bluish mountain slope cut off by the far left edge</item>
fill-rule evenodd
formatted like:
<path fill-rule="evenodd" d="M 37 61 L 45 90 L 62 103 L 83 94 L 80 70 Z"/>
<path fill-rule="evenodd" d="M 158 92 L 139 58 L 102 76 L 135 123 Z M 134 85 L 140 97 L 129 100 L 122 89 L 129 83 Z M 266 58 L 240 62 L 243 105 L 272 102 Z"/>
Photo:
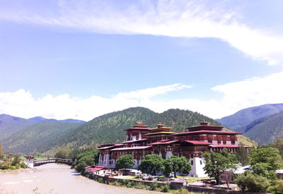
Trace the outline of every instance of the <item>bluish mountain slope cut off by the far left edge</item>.
<path fill-rule="evenodd" d="M 23 130 L 26 126 L 33 125 L 33 121 L 8 114 L 0 114 L 0 142 L 8 136 Z"/>

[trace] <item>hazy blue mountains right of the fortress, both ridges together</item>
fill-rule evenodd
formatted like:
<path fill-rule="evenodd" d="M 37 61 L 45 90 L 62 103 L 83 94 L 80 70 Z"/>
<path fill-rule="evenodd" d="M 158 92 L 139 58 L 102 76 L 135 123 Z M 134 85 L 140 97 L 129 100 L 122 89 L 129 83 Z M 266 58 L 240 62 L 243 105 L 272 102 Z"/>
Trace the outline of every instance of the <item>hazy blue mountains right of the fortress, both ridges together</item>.
<path fill-rule="evenodd" d="M 260 145 L 283 138 L 283 104 L 250 107 L 216 121 L 233 128 L 233 131 L 243 133 Z"/>

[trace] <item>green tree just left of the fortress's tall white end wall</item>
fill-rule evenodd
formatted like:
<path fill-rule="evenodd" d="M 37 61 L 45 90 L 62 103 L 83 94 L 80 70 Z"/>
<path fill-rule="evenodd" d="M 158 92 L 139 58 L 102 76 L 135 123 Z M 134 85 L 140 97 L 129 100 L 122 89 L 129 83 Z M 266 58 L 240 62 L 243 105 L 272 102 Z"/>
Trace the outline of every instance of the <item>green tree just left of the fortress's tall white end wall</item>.
<path fill-rule="evenodd" d="M 174 177 L 177 177 L 177 172 L 181 174 L 188 174 L 191 169 L 192 166 L 190 166 L 190 162 L 187 162 L 186 157 L 171 156 L 164 162 L 163 174 L 165 176 L 170 176 L 171 172 L 173 172 Z"/>

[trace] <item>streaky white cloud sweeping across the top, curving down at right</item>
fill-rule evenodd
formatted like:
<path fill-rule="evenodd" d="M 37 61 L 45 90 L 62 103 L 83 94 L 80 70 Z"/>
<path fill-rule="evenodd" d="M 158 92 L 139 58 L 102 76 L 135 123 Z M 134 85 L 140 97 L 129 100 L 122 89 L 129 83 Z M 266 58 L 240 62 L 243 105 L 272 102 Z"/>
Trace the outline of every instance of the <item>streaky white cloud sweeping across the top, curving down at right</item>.
<path fill-rule="evenodd" d="M 283 36 L 239 23 L 241 12 L 229 1 L 57 1 L 57 11 L 1 10 L 0 19 L 59 25 L 92 32 L 213 37 L 228 42 L 253 59 L 270 65 L 283 61 Z"/>

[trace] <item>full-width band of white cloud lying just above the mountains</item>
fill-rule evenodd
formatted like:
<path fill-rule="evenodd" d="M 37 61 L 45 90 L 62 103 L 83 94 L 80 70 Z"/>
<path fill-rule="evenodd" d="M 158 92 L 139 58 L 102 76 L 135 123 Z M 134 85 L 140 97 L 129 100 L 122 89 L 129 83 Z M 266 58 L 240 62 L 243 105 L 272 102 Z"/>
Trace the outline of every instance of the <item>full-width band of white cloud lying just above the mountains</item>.
<path fill-rule="evenodd" d="M 121 92 L 110 98 L 92 96 L 87 99 L 69 97 L 67 94 L 56 97 L 46 95 L 40 99 L 35 99 L 30 92 L 18 90 L 16 92 L 0 93 L 0 113 L 24 118 L 44 116 L 46 118 L 71 118 L 88 121 L 112 111 L 129 107 L 146 107 L 157 112 L 176 108 L 189 109 L 218 119 L 247 107 L 282 103 L 282 83 L 283 71 L 262 78 L 217 85 L 212 90 L 221 92 L 223 97 L 206 101 L 192 98 L 183 99 L 181 97 L 174 100 L 164 100 L 162 98 L 162 95 L 167 92 L 191 87 L 183 84 Z"/>

